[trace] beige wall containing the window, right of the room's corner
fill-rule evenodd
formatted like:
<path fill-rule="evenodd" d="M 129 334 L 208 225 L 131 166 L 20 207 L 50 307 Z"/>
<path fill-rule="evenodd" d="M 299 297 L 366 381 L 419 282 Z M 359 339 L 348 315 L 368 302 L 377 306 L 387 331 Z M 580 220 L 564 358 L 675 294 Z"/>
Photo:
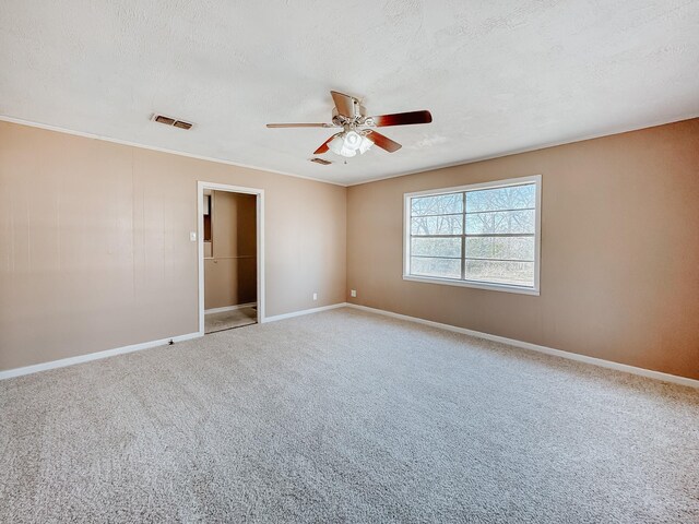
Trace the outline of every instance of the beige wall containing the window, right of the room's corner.
<path fill-rule="evenodd" d="M 541 296 L 402 279 L 403 193 L 541 174 Z M 347 193 L 360 305 L 699 379 L 699 119 Z"/>

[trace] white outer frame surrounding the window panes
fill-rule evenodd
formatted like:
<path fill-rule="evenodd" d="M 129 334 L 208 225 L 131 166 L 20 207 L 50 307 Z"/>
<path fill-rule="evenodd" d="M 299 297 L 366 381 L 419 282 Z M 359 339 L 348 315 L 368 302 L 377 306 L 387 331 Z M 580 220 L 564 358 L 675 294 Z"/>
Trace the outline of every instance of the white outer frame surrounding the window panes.
<path fill-rule="evenodd" d="M 462 281 L 455 278 L 440 278 L 437 276 L 411 275 L 411 199 L 414 196 L 435 196 L 439 194 L 458 193 L 462 191 L 475 191 L 479 189 L 498 189 L 523 183 L 535 183 L 536 209 L 534 211 L 534 286 L 518 286 L 514 284 L 498 284 L 479 281 Z M 507 180 L 495 180 L 491 182 L 471 183 L 469 186 L 458 186 L 455 188 L 438 188 L 425 191 L 415 191 L 403 194 L 403 279 L 412 282 L 425 282 L 429 284 L 442 284 L 447 286 L 473 287 L 476 289 L 490 289 L 495 291 L 519 293 L 523 295 L 540 295 L 540 272 L 541 272 L 541 246 L 542 246 L 542 176 L 532 175 L 529 177 L 509 178 Z M 465 224 L 464 224 L 465 228 Z"/>

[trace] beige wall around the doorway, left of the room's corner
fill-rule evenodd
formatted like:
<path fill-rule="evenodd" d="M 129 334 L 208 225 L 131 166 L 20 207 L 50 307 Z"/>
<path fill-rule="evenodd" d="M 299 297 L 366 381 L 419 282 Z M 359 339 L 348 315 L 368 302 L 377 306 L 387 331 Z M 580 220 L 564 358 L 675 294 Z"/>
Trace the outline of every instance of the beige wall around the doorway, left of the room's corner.
<path fill-rule="evenodd" d="M 0 122 L 0 369 L 198 331 L 198 180 L 264 189 L 268 315 L 344 301 L 345 188 Z"/>

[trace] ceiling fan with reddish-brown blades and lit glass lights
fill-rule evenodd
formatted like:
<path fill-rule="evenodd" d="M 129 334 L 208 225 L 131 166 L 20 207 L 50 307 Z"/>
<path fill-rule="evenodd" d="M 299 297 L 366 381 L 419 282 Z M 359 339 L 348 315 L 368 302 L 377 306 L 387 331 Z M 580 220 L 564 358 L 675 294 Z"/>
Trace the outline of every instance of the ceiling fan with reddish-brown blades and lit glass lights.
<path fill-rule="evenodd" d="M 401 144 L 374 130 L 389 126 L 410 126 L 429 123 L 433 116 L 427 110 L 395 112 L 368 117 L 365 107 L 354 96 L 331 91 L 335 107 L 332 110 L 332 123 L 268 123 L 268 128 L 342 128 L 330 136 L 313 154 L 320 155 L 329 150 L 337 155 L 352 157 L 363 155 L 374 144 L 389 153 L 396 152 Z"/>

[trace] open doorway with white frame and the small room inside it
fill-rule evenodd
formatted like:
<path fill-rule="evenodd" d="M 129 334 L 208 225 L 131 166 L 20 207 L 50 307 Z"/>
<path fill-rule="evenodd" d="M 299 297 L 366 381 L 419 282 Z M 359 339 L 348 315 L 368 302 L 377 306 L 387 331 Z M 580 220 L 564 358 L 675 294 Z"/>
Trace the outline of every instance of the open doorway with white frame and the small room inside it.
<path fill-rule="evenodd" d="M 200 334 L 261 322 L 263 192 L 199 182 Z"/>

